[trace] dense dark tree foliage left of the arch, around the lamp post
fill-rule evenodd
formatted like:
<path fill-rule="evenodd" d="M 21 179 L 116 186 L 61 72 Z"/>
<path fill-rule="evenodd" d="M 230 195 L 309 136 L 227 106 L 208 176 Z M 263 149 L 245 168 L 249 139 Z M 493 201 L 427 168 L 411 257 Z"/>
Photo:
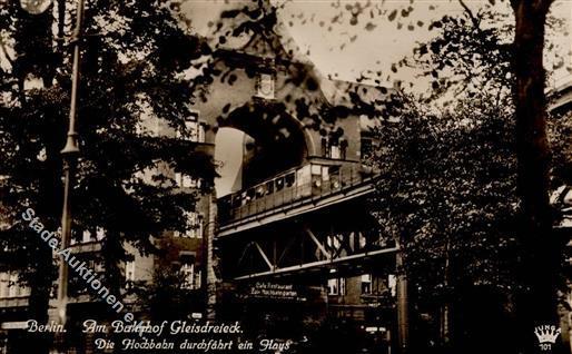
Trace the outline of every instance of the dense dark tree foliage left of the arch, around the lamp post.
<path fill-rule="evenodd" d="M 65 12 L 59 12 L 62 6 Z M 213 180 L 210 158 L 184 121 L 193 99 L 184 71 L 209 52 L 168 1 L 87 1 L 78 102 L 80 157 L 72 183 L 76 237 L 105 230 L 106 281 L 118 291 L 126 243 L 154 252 L 151 237 L 184 232 L 195 191 L 177 188 L 174 171 Z M 30 317 L 47 315 L 52 286 L 48 246 L 19 217 L 27 207 L 57 230 L 62 205 L 60 150 L 68 127 L 75 2 L 29 14 L 19 1 L 0 3 L 0 205 L 3 269 L 27 269 Z M 53 10 L 53 11 L 52 11 Z M 63 19 L 63 21 L 62 21 Z M 60 37 L 65 35 L 66 37 Z M 169 134 L 157 134 L 156 120 Z M 157 169 L 160 167 L 160 169 Z M 160 173 L 159 173 L 160 171 Z M 208 184 L 204 184 L 209 188 Z"/>

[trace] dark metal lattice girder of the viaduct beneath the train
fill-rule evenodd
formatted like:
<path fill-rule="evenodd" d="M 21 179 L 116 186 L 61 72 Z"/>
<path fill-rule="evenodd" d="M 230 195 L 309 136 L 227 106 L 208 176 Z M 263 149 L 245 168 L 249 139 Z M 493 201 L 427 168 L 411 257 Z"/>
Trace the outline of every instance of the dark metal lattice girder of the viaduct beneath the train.
<path fill-rule="evenodd" d="M 262 225 L 237 237 L 219 239 L 228 259 L 226 276 L 243 278 L 295 273 L 295 269 L 337 266 L 338 262 L 345 265 L 346 260 L 359 268 L 364 262 L 361 258 L 391 252 L 392 244 L 375 232 L 375 225 L 366 217 L 343 217 L 347 208 L 356 207 L 359 205 L 338 206 L 328 213 L 283 220 L 272 227 Z M 244 249 L 241 255 L 238 249 Z"/>

